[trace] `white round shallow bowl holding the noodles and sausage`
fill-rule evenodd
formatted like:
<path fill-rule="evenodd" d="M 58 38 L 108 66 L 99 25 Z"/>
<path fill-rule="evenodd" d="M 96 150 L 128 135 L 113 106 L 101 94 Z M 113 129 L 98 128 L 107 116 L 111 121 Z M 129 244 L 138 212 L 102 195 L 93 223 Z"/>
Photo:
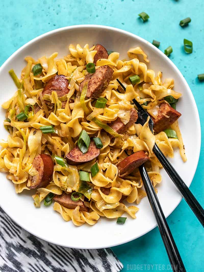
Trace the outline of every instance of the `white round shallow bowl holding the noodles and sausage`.
<path fill-rule="evenodd" d="M 1 66 L 0 103 L 8 100 L 16 91 L 8 71 L 13 68 L 20 77 L 21 69 L 25 66 L 24 57 L 31 55 L 34 59 L 38 59 L 43 55 L 49 56 L 53 52 L 58 52 L 58 56 L 63 57 L 67 54 L 67 46 L 71 43 L 75 45 L 79 43 L 81 46 L 86 43 L 90 46 L 99 43 L 107 50 L 119 52 L 120 59 L 127 57 L 126 52 L 129 48 L 140 46 L 150 60 L 151 69 L 156 73 L 162 71 L 163 79 L 175 80 L 175 91 L 183 94 L 177 109 L 182 113 L 179 124 L 188 160 L 183 163 L 177 150 L 174 159 L 170 161 L 187 186 L 190 186 L 199 159 L 201 141 L 200 120 L 194 97 L 174 63 L 155 46 L 132 33 L 108 26 L 78 25 L 56 29 L 33 39 L 18 49 Z M 1 109 L 0 137 L 6 139 L 7 132 L 2 124 L 4 119 L 5 112 Z M 181 201 L 181 195 L 163 169 L 161 174 L 163 180 L 157 186 L 158 198 L 167 217 Z M 149 202 L 144 198 L 138 205 L 140 210 L 136 214 L 137 218 L 128 217 L 125 225 L 116 224 L 116 219 L 100 218 L 94 226 L 84 224 L 76 227 L 72 221 L 65 222 L 52 207 L 48 208 L 42 204 L 40 209 L 35 208 L 31 198 L 35 190 L 25 190 L 21 194 L 16 194 L 13 183 L 7 180 L 5 173 L 0 173 L 0 177 L 2 209 L 25 230 L 54 244 L 70 248 L 107 248 L 136 239 L 156 226 Z"/>

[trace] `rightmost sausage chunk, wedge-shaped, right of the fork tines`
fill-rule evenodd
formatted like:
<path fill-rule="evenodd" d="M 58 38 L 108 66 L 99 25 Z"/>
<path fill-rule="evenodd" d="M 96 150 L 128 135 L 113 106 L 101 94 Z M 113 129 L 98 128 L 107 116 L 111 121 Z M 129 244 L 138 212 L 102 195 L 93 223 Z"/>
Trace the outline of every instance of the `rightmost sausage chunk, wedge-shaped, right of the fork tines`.
<path fill-rule="evenodd" d="M 154 133 L 157 134 L 161 131 L 167 129 L 170 125 L 172 125 L 179 117 L 181 113 L 177 110 L 173 109 L 169 104 L 163 102 L 159 105 L 157 118 L 152 120 L 154 122 Z"/>

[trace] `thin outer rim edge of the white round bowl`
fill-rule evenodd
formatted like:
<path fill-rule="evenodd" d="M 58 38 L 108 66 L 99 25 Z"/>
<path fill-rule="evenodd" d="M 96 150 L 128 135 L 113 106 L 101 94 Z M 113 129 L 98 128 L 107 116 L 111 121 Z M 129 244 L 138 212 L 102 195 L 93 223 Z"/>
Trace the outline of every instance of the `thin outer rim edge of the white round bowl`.
<path fill-rule="evenodd" d="M 199 112 L 198 112 L 198 109 L 197 109 L 197 105 L 196 105 L 196 101 L 194 99 L 194 96 L 191 92 L 191 89 L 190 87 L 188 86 L 188 83 L 186 81 L 186 79 L 183 77 L 182 73 L 180 72 L 180 70 L 177 68 L 177 66 L 161 51 L 159 50 L 157 47 L 155 47 L 153 44 L 151 44 L 149 41 L 147 41 L 146 39 L 143 39 L 141 38 L 140 36 L 137 36 L 131 32 L 128 32 L 126 30 L 123 30 L 123 29 L 119 29 L 119 28 L 116 28 L 116 27 L 111 27 L 111 26 L 104 26 L 104 25 L 98 25 L 98 24 L 78 24 L 78 25 L 72 25 L 72 26 L 65 26 L 65 27 L 61 27 L 61 28 L 58 28 L 58 29 L 54 29 L 54 30 L 51 30 L 51 31 L 48 31 L 48 32 L 45 32 L 39 36 L 37 36 L 36 38 L 33 38 L 32 40 L 30 40 L 29 42 L 27 42 L 26 44 L 22 45 L 20 48 L 18 48 L 13 54 L 10 55 L 10 57 L 7 58 L 7 60 L 1 65 L 0 67 L 0 73 L 2 72 L 2 70 L 4 70 L 4 67 L 7 65 L 7 63 L 13 58 L 15 57 L 20 51 L 24 50 L 25 48 L 29 47 L 31 44 L 34 44 L 35 42 L 45 38 L 45 37 L 48 37 L 48 36 L 51 36 L 55 33 L 60 33 L 60 32 L 64 32 L 64 31 L 67 31 L 69 29 L 78 29 L 78 28 L 94 28 L 94 29 L 107 29 L 107 30 L 112 30 L 112 31 L 116 31 L 116 32 L 119 32 L 119 33 L 122 33 L 122 34 L 125 34 L 127 36 L 131 36 L 133 38 L 136 38 L 138 40 L 140 40 L 141 42 L 143 43 L 146 43 L 148 44 L 148 46 L 150 48 L 152 48 L 154 51 L 157 52 L 157 54 L 160 56 L 160 57 L 164 57 L 165 60 L 175 69 L 175 71 L 178 73 L 178 75 L 180 76 L 181 80 L 183 81 L 186 89 L 188 90 L 189 92 L 189 95 L 191 97 L 191 101 L 193 103 L 193 106 L 194 106 L 194 112 L 195 112 L 195 115 L 196 115 L 196 122 L 197 122 L 197 125 L 198 125 L 198 144 L 199 144 L 199 154 L 196 156 L 196 167 L 195 169 L 193 169 L 192 171 L 192 174 L 191 174 L 191 182 L 193 181 L 193 178 L 194 178 L 194 175 L 195 175 L 195 172 L 196 172 L 196 169 L 197 169 L 197 165 L 198 165 L 198 161 L 199 161 L 199 156 L 200 156 L 200 148 L 201 148 L 201 125 L 200 125 L 200 118 L 199 118 Z M 190 187 L 191 185 L 191 182 L 189 184 L 188 187 Z M 178 206 L 178 204 L 181 202 L 182 200 L 182 196 L 180 197 L 180 199 L 178 200 L 178 203 L 176 203 L 174 209 L 171 210 L 171 212 L 169 212 L 167 214 L 167 216 L 165 216 L 166 218 L 176 209 L 176 207 Z M 2 207 L 1 207 L 2 208 Z M 64 244 L 61 244 L 61 243 L 55 243 L 55 242 L 52 242 L 48 239 L 45 239 L 39 235 L 36 235 L 35 233 L 27 230 L 26 228 L 23 227 L 23 225 L 21 225 L 20 222 L 18 222 L 17 220 L 14 220 L 12 218 L 12 215 L 10 215 L 9 212 L 6 211 L 6 209 L 2 208 L 4 210 L 4 212 L 14 221 L 16 222 L 21 228 L 23 228 L 24 230 L 28 231 L 29 233 L 33 234 L 34 236 L 44 240 L 44 241 L 47 241 L 49 243 L 53 243 L 55 245 L 59 245 L 59 246 L 64 246 L 64 247 L 70 247 L 70 246 L 67 246 L 67 245 L 64 245 Z M 144 231 L 143 233 L 141 233 L 137 238 L 143 236 L 144 234 L 148 233 L 149 231 L 151 231 L 153 228 L 155 228 L 157 226 L 157 224 L 153 225 L 152 228 L 150 228 L 148 231 Z M 113 243 L 112 245 L 109 245 L 108 247 L 113 247 L 113 246 L 118 246 L 118 245 L 122 245 L 124 243 L 128 243 L 132 240 L 135 240 L 137 238 L 131 238 L 131 239 L 128 239 L 126 240 L 125 242 L 115 242 Z M 73 247 L 73 248 L 79 248 L 79 247 Z M 83 249 L 99 249 L 99 248 L 103 248 L 103 247 L 86 247 L 86 248 L 83 248 Z M 79 248 L 80 249 L 80 248 Z"/>

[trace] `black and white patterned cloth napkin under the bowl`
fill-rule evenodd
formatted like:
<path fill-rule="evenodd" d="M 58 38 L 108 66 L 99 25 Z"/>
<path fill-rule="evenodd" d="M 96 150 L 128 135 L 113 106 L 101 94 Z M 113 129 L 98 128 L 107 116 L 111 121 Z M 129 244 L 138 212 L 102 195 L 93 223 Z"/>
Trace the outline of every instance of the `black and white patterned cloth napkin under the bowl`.
<path fill-rule="evenodd" d="M 0 271 L 117 272 L 123 265 L 107 249 L 73 249 L 45 242 L 19 227 L 0 208 Z"/>

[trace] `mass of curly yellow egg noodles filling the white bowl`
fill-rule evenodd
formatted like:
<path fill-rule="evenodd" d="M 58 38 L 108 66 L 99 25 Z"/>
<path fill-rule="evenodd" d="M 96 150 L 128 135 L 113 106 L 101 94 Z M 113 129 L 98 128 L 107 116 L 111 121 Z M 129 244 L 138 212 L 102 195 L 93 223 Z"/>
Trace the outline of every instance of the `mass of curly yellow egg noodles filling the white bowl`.
<path fill-rule="evenodd" d="M 37 61 L 30 56 L 25 58 L 27 65 L 21 72 L 20 86 L 13 97 L 2 105 L 7 110 L 4 125 L 9 135 L 7 141 L 1 140 L 0 143 L 1 171 L 8 173 L 7 178 L 14 183 L 16 193 L 30 190 L 29 177 L 36 175 L 36 170 L 32 166 L 33 159 L 41 153 L 50 154 L 54 161 L 53 181 L 46 188 L 38 188 L 35 194 L 33 193 L 36 207 L 40 207 L 42 200 L 50 192 L 55 195 L 61 195 L 63 191 L 77 192 L 81 185 L 79 170 L 83 170 L 89 172 L 90 182 L 86 184 L 91 188 L 91 195 L 90 201 L 85 200 L 84 194 L 81 200 L 85 200 L 89 212 L 79 211 L 79 206 L 68 209 L 54 202 L 54 210 L 59 212 L 64 220 L 72 220 L 73 224 L 79 226 L 85 222 L 94 225 L 100 216 L 118 218 L 123 213 L 127 213 L 132 218 L 136 218 L 135 213 L 138 208 L 133 203 L 139 204 L 146 196 L 139 171 L 136 169 L 126 177 L 120 178 L 116 165 L 133 152 L 144 150 L 149 156 L 149 161 L 145 165 L 155 187 L 162 181 L 160 174 L 162 165 L 152 151 L 155 142 L 165 156 L 171 158 L 174 157 L 174 149 L 179 148 L 181 158 L 186 161 L 178 121 L 171 126 L 176 131 L 177 138 L 168 138 L 165 132 L 153 135 L 148 120 L 144 126 L 134 124 L 129 127 L 122 134 L 122 138 L 114 138 L 92 119 L 96 117 L 106 124 L 119 117 L 124 124 L 127 123 L 130 110 L 134 107 L 133 98 L 155 117 L 158 105 L 164 97 L 171 95 L 178 99 L 181 93 L 172 89 L 173 79 L 162 81 L 162 72 L 155 75 L 153 70 L 147 69 L 146 63 L 149 60 L 140 47 L 131 48 L 128 51 L 130 60 L 119 60 L 119 53 L 112 52 L 107 59 L 97 61 L 96 69 L 108 65 L 114 70 L 111 81 L 100 95 L 107 99 L 107 104 L 104 109 L 98 109 L 93 106 L 95 100 L 86 98 L 85 105 L 88 112 L 85 113 L 80 103 L 79 84 L 88 74 L 86 63 L 93 63 L 97 51 L 94 47 L 89 48 L 88 44 L 83 48 L 79 44 L 76 46 L 70 44 L 69 51 L 70 54 L 64 58 L 57 58 L 57 52 L 50 57 L 43 56 Z M 142 55 L 144 62 L 140 62 L 138 55 Z M 43 70 L 40 75 L 34 76 L 32 68 L 37 63 L 41 64 Z M 57 93 L 52 91 L 52 94 L 42 97 L 46 82 L 56 74 L 64 75 L 69 80 L 68 94 L 59 98 Z M 134 87 L 129 81 L 129 76 L 133 75 L 140 76 L 140 82 Z M 126 91 L 122 90 L 116 79 L 122 82 Z M 70 99 L 72 99 L 71 103 Z M 45 100 L 50 104 L 45 104 Z M 67 101 L 65 108 L 62 108 L 63 101 Z M 18 120 L 16 115 L 24 111 L 27 105 L 34 107 L 39 105 L 41 109 L 36 113 L 29 111 L 26 121 Z M 42 133 L 40 127 L 49 125 L 54 127 L 55 133 Z M 82 130 L 85 130 L 90 137 L 101 139 L 103 147 L 100 149 L 99 156 L 77 166 L 57 164 L 54 155 L 65 158 L 66 154 L 77 145 Z M 99 172 L 92 177 L 91 166 L 96 161 Z M 109 195 L 101 191 L 102 187 L 110 188 Z M 122 196 L 126 196 L 125 203 L 131 203 L 130 206 L 120 202 Z"/>

